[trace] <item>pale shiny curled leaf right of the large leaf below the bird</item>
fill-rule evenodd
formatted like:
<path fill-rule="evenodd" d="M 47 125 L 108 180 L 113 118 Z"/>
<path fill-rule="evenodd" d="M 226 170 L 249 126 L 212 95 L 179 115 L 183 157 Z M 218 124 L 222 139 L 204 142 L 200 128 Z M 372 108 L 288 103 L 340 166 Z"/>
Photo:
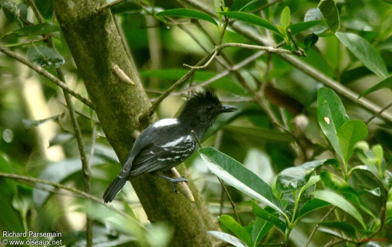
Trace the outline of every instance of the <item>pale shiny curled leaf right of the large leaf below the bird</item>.
<path fill-rule="evenodd" d="M 335 159 L 315 160 L 306 162 L 297 167 L 289 167 L 280 172 L 276 178 L 276 189 L 279 192 L 287 193 L 304 186 L 312 173 L 323 165 L 338 165 Z"/>

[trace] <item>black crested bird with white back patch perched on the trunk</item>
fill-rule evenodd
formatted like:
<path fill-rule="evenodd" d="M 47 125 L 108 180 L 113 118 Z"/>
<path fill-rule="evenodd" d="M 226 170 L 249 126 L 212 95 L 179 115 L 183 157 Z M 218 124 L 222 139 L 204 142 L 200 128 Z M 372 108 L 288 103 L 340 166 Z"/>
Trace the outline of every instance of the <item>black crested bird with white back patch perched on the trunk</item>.
<path fill-rule="evenodd" d="M 102 196 L 104 202 L 111 202 L 127 180 L 143 173 L 151 173 L 169 180 L 176 191 L 178 182 L 188 180 L 184 176 L 171 178 L 159 172 L 169 171 L 189 158 L 218 115 L 236 110 L 238 109 L 234 106 L 222 105 L 210 89 L 188 96 L 177 118 L 152 123 L 136 138 L 123 163 L 123 169 L 105 190 Z"/>

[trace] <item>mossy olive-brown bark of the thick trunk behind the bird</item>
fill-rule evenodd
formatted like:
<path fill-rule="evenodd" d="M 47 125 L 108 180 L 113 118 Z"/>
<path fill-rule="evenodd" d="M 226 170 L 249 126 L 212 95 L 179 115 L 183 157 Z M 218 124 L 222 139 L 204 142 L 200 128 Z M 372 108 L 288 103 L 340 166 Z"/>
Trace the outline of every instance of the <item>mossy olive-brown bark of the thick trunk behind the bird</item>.
<path fill-rule="evenodd" d="M 111 12 L 104 10 L 95 14 L 95 9 L 106 2 L 104 0 L 52 2 L 102 129 L 120 161 L 124 161 L 136 133 L 147 127 L 154 117 L 146 123 L 138 121 L 150 101 L 126 56 Z M 123 82 L 113 72 L 115 64 L 129 76 L 134 86 Z M 178 171 L 187 175 L 183 165 Z M 214 245 L 215 240 L 206 231 L 219 227 L 191 180 L 189 187 L 195 196 L 194 203 L 173 193 L 172 184 L 149 174 L 131 182 L 149 221 L 167 222 L 173 227 L 171 247 Z"/>

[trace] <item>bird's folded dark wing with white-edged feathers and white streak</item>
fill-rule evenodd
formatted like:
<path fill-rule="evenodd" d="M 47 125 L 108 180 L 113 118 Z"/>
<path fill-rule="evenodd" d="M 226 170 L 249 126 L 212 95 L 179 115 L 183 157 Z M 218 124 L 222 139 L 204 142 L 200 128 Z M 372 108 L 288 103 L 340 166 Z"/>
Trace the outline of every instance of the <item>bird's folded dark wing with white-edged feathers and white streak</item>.
<path fill-rule="evenodd" d="M 178 138 L 165 145 L 151 144 L 143 148 L 133 159 L 131 176 L 165 170 L 165 167 L 180 164 L 196 149 L 193 138 Z"/>

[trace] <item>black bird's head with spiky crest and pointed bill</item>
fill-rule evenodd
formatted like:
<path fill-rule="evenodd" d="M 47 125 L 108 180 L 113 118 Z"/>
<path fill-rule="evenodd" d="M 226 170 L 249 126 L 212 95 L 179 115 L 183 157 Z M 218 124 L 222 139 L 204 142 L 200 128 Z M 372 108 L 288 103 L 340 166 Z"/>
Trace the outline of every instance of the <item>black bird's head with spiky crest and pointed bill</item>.
<path fill-rule="evenodd" d="M 189 97 L 178 119 L 211 126 L 219 114 L 236 110 L 234 106 L 222 105 L 216 94 L 205 90 Z"/>

